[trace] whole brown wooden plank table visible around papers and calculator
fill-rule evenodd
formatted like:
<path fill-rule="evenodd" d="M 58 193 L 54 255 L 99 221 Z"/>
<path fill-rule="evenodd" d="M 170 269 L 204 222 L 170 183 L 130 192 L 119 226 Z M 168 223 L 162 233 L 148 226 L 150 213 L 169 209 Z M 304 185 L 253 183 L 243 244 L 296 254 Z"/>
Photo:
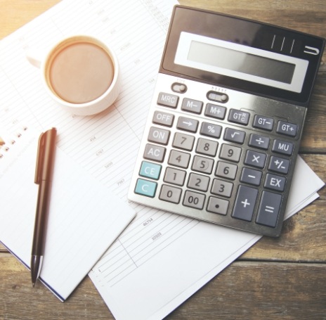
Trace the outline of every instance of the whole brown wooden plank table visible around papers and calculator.
<path fill-rule="evenodd" d="M 325 0 L 180 2 L 326 37 Z M 0 39 L 56 3 L 0 0 Z M 326 181 L 326 53 L 322 61 L 300 153 Z M 0 245 L 0 319 L 114 318 L 88 277 L 59 302 L 44 286 L 32 288 L 30 272 Z M 285 222 L 280 238 L 262 238 L 167 319 L 325 320 L 326 188 Z"/>

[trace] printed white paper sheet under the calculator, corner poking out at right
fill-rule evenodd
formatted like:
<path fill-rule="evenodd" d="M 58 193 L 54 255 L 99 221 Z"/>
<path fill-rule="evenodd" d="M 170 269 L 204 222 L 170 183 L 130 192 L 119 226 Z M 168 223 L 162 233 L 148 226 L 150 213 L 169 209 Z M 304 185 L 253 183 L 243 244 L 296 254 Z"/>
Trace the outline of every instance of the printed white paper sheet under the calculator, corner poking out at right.
<path fill-rule="evenodd" d="M 286 217 L 323 185 L 299 157 Z M 162 319 L 260 238 L 143 208 L 89 276 L 116 319 Z"/>

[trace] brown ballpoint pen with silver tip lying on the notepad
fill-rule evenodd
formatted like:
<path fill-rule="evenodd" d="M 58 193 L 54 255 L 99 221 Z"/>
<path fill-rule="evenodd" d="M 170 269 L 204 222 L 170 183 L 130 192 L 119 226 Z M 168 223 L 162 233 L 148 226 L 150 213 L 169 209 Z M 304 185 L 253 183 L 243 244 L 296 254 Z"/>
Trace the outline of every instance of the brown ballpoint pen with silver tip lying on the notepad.
<path fill-rule="evenodd" d="M 35 183 L 39 184 L 39 193 L 37 196 L 37 211 L 35 216 L 31 259 L 33 287 L 39 278 L 44 255 L 48 206 L 50 203 L 51 180 L 56 151 L 56 132 L 56 128 L 52 128 L 42 133 L 39 137 L 37 165 L 35 170 Z"/>

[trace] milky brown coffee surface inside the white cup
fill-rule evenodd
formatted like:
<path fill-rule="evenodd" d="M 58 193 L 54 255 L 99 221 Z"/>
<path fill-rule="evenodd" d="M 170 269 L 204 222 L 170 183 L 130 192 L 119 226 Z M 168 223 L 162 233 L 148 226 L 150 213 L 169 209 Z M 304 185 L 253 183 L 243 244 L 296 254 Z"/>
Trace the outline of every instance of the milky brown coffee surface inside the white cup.
<path fill-rule="evenodd" d="M 46 79 L 56 96 L 69 103 L 87 103 L 112 84 L 115 68 L 110 54 L 87 41 L 74 41 L 53 51 Z"/>

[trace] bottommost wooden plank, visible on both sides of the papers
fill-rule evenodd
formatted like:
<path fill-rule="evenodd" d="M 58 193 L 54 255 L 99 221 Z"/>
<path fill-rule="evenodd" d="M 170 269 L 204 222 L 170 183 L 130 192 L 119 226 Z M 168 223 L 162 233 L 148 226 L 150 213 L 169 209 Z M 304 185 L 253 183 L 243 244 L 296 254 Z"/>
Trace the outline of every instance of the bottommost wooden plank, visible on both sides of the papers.
<path fill-rule="evenodd" d="M 167 319 L 325 319 L 325 274 L 325 264 L 234 262 Z M 0 255 L 0 279 L 0 319 L 114 319 L 88 278 L 64 303 L 31 290 L 13 257 Z"/>

